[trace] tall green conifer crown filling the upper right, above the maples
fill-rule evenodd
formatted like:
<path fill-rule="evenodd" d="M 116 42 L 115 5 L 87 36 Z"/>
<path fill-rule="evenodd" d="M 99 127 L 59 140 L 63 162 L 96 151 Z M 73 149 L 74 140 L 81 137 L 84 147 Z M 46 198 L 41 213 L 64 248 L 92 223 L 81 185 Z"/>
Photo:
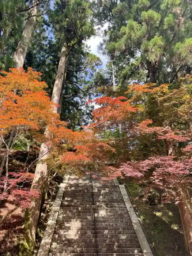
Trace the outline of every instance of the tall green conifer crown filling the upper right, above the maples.
<path fill-rule="evenodd" d="M 191 73 L 192 5 L 184 0 L 93 1 L 102 49 L 119 83 L 169 83 Z"/>

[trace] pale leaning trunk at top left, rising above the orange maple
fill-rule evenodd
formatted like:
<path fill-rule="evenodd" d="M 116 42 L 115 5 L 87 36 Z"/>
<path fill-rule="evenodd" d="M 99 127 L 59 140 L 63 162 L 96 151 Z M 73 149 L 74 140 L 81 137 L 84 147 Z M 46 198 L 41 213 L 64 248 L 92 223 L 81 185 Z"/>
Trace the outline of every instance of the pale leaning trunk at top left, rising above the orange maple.
<path fill-rule="evenodd" d="M 39 12 L 39 0 L 34 1 L 33 5 L 34 7 L 30 11 L 29 19 L 27 19 L 25 29 L 22 33 L 22 39 L 19 41 L 16 51 L 13 54 L 13 60 L 15 62 L 16 68 L 23 67 L 27 50 L 29 48 L 32 34 L 35 28 L 37 15 Z"/>

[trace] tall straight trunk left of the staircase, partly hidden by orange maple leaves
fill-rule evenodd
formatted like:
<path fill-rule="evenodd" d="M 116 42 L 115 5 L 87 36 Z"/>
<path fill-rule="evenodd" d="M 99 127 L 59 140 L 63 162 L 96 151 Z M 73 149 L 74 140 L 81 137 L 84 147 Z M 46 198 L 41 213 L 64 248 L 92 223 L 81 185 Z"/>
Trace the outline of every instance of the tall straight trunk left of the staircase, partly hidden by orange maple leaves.
<path fill-rule="evenodd" d="M 53 94 L 51 101 L 59 105 L 60 101 L 60 94 L 64 79 L 64 73 L 65 73 L 65 65 L 66 65 L 66 58 L 67 58 L 67 45 L 63 44 L 61 49 L 61 55 L 60 55 L 60 61 L 59 66 L 57 69 L 57 75 L 53 87 Z M 59 111 L 59 107 L 54 108 L 53 112 Z M 45 146 L 45 144 L 41 145 L 41 149 L 39 152 L 39 156 L 43 156 L 41 159 L 45 160 L 48 157 L 48 149 Z M 47 182 L 45 182 L 48 179 L 48 168 L 46 163 L 39 162 L 35 169 L 35 177 L 33 180 L 33 184 L 31 188 L 37 189 L 39 192 L 39 198 L 33 199 L 31 203 L 31 207 L 27 209 L 25 213 L 25 237 L 26 242 L 30 248 L 30 253 L 27 252 L 26 255 L 31 255 L 33 252 L 34 246 L 35 246 L 35 234 L 37 230 L 37 224 L 38 224 L 38 218 L 39 218 L 39 212 L 41 208 L 41 201 L 42 197 L 46 191 Z M 25 255 L 25 254 L 23 254 Z"/>

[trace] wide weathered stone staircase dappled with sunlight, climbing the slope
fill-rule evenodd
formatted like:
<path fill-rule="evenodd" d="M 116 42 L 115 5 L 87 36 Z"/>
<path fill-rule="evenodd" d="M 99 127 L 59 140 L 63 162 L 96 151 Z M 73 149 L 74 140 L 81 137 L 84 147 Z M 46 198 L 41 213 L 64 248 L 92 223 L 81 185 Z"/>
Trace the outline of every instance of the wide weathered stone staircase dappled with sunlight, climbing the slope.
<path fill-rule="evenodd" d="M 143 252 L 114 182 L 69 176 L 62 196 L 53 232 L 45 234 L 38 256 L 153 256 L 150 249 Z"/>

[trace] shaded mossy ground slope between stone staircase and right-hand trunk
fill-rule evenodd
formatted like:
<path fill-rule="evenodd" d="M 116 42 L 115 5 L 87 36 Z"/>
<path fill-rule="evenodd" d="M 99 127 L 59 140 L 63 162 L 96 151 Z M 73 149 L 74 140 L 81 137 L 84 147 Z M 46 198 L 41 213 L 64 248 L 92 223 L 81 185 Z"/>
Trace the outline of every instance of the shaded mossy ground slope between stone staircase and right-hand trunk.
<path fill-rule="evenodd" d="M 189 256 L 178 207 L 174 203 L 150 206 L 142 200 L 142 188 L 133 182 L 127 183 L 127 189 L 157 256 Z"/>

